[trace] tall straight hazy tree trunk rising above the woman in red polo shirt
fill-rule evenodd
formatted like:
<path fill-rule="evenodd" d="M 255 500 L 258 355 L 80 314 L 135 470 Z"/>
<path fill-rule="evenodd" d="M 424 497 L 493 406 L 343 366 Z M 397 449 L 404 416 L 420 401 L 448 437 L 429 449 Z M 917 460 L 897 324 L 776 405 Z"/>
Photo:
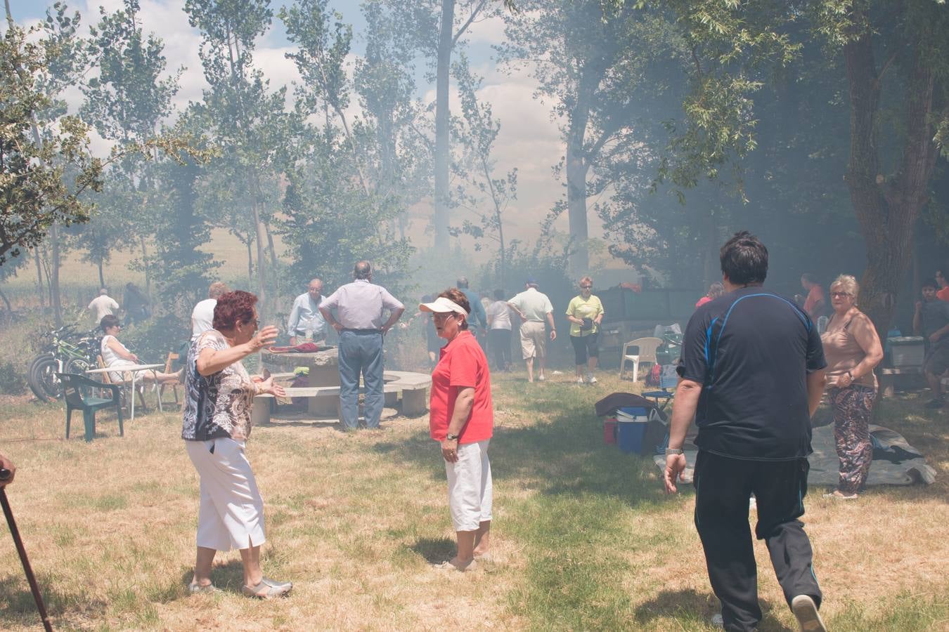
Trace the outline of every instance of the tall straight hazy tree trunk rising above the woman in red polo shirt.
<path fill-rule="evenodd" d="M 451 130 L 449 128 L 449 68 L 454 47 L 455 0 L 442 0 L 441 27 L 435 86 L 435 248 L 448 252 L 448 170 L 451 164 Z"/>

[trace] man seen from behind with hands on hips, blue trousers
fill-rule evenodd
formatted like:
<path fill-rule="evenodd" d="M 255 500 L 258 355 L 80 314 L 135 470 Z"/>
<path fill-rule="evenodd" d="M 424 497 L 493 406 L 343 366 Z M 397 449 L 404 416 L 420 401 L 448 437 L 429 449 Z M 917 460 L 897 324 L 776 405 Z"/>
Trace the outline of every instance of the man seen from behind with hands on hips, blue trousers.
<path fill-rule="evenodd" d="M 353 279 L 320 303 L 320 314 L 340 334 L 340 411 L 344 430 L 357 427 L 361 372 L 365 383 L 365 426 L 379 427 L 383 401 L 382 336 L 405 311 L 405 306 L 384 287 L 372 282 L 369 262 L 356 264 Z"/>

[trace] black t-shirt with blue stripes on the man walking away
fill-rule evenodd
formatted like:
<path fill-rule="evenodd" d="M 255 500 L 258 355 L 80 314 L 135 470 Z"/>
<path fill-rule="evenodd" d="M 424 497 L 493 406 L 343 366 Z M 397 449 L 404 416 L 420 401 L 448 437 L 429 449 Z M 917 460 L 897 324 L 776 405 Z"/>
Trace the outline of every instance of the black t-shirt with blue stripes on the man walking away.
<path fill-rule="evenodd" d="M 696 443 L 726 457 L 810 454 L 807 374 L 827 367 L 817 327 L 788 298 L 745 287 L 689 320 L 679 375 L 698 382 Z"/>

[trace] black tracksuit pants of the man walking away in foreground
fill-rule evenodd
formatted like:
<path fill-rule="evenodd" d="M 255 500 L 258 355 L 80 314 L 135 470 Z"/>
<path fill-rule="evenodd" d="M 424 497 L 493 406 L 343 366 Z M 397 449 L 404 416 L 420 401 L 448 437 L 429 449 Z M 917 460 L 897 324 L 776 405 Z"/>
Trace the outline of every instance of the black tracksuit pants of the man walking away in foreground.
<path fill-rule="evenodd" d="M 754 529 L 771 553 L 784 598 L 810 595 L 820 606 L 821 589 L 812 568 L 813 552 L 804 533 L 804 497 L 808 493 L 807 459 L 740 460 L 698 452 L 696 529 L 726 630 L 753 630 L 761 621 L 757 569 L 748 523 L 748 501 L 754 493 L 758 523 Z"/>

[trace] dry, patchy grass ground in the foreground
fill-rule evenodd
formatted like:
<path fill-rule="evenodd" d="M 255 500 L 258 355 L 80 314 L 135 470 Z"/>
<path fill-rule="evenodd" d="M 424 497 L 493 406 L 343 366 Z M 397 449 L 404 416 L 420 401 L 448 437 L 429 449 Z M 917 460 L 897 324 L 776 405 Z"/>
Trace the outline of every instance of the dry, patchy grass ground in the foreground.
<path fill-rule="evenodd" d="M 691 490 L 664 496 L 659 470 L 605 445 L 593 414 L 594 401 L 631 388 L 605 372 L 589 388 L 568 374 L 534 385 L 496 377 L 494 562 L 465 574 L 430 566 L 451 554 L 454 534 L 425 418 L 393 416 L 355 436 L 306 421 L 255 428 L 265 573 L 294 583 L 268 603 L 240 596 L 236 551 L 214 567 L 223 593 L 187 593 L 197 478 L 177 412 L 137 416 L 123 438 L 100 413 L 86 443 L 81 431 L 63 439 L 61 406 L 8 398 L 0 446 L 19 467 L 9 500 L 58 629 L 714 629 Z M 881 413 L 938 479 L 847 503 L 810 491 L 825 620 L 837 631 L 949 629 L 949 425 L 912 396 Z M 796 629 L 755 547 L 761 630 Z M 37 623 L 2 527 L 0 629 Z"/>

